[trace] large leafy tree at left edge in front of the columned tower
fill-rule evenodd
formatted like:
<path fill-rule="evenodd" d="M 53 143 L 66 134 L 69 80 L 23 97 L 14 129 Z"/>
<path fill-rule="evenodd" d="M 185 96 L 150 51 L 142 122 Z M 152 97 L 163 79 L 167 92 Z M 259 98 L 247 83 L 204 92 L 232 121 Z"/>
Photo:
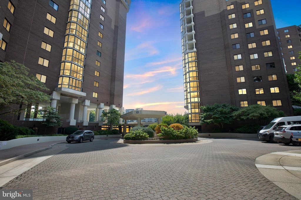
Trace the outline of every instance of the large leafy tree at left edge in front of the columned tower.
<path fill-rule="evenodd" d="M 29 69 L 24 65 L 15 61 L 0 62 L 0 71 L 0 115 L 22 110 L 12 110 L 9 104 L 50 102 L 50 96 L 42 92 L 49 89 L 32 74 L 28 76 Z"/>

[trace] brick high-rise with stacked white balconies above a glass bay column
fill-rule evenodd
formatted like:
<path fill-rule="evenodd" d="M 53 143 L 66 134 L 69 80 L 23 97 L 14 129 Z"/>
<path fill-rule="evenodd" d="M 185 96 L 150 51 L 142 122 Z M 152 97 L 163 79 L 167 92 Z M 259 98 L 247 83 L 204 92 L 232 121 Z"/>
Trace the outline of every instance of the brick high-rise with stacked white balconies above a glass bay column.
<path fill-rule="evenodd" d="M 214 103 L 293 114 L 270 0 L 183 0 L 180 21 L 190 125 Z"/>

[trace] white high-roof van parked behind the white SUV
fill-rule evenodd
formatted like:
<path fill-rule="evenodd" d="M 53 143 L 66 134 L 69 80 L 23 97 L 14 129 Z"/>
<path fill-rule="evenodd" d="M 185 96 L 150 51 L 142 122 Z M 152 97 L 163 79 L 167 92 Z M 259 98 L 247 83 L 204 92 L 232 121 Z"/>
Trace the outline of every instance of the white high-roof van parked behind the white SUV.
<path fill-rule="evenodd" d="M 259 131 L 258 138 L 265 141 L 274 141 L 274 131 L 278 126 L 285 126 L 290 124 L 301 124 L 301 116 L 293 117 L 278 117 L 272 120 L 266 127 Z"/>

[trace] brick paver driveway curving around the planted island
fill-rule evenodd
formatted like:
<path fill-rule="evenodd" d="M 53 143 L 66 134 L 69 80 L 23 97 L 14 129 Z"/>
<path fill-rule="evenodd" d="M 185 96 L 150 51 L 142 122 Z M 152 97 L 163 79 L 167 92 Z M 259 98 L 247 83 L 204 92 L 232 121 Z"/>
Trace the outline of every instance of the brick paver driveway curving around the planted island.
<path fill-rule="evenodd" d="M 24 172 L 2 189 L 33 199 L 295 199 L 255 167 L 258 156 L 300 147 L 256 139 L 207 144 L 126 145 L 94 140 Z"/>

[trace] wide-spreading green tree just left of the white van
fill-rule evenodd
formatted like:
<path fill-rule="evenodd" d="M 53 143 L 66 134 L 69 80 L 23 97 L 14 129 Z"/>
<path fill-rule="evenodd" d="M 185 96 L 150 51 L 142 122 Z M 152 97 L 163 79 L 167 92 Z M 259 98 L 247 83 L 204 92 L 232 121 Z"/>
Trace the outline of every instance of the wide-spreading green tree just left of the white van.
<path fill-rule="evenodd" d="M 259 120 L 259 125 L 265 125 L 269 119 L 276 117 L 284 117 L 283 111 L 278 111 L 270 105 L 262 106 L 259 104 L 249 105 L 248 107 L 241 108 L 238 111 L 233 112 L 234 119 L 237 120 Z"/>

